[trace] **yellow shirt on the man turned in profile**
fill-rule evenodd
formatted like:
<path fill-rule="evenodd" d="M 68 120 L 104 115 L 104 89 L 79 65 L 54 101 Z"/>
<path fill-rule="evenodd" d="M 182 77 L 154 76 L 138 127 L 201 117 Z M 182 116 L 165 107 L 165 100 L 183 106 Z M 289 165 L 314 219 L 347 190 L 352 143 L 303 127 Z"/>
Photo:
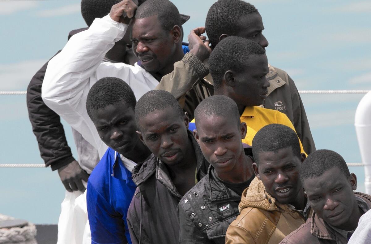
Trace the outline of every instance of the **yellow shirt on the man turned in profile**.
<path fill-rule="evenodd" d="M 262 107 L 245 107 L 245 110 L 240 117 L 241 122 L 245 122 L 247 125 L 247 133 L 243 143 L 252 145 L 253 138 L 257 131 L 268 124 L 283 124 L 292 128 L 295 128 L 286 114 L 281 113 L 277 110 L 262 108 Z M 299 139 L 301 152 L 304 152 L 303 145 Z M 305 153 L 306 154 L 306 153 Z"/>

